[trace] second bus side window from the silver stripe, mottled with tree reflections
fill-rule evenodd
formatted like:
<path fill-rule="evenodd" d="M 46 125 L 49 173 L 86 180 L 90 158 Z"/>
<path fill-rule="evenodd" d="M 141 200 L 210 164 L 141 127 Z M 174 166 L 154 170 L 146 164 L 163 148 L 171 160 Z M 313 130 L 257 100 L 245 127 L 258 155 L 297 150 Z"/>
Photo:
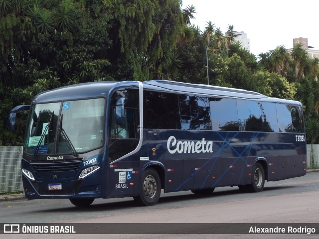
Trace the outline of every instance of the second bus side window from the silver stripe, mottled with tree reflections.
<path fill-rule="evenodd" d="M 209 100 L 207 97 L 179 95 L 181 129 L 211 130 Z"/>

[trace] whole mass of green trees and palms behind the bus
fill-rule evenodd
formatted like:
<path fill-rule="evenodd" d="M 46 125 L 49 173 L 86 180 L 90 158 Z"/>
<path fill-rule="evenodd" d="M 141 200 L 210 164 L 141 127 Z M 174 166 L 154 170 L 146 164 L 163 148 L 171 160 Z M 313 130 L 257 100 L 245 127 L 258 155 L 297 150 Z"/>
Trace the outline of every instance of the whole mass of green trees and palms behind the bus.
<path fill-rule="evenodd" d="M 5 130 L 14 106 L 59 86 L 103 80 L 168 79 L 207 84 L 206 47 L 224 34 L 211 21 L 191 26 L 193 5 L 180 0 L 0 0 L 0 145 L 21 144 Z M 296 44 L 258 55 L 236 38 L 207 49 L 209 84 L 295 99 L 307 139 L 319 142 L 319 59 Z M 258 60 L 258 61 L 257 61 Z"/>

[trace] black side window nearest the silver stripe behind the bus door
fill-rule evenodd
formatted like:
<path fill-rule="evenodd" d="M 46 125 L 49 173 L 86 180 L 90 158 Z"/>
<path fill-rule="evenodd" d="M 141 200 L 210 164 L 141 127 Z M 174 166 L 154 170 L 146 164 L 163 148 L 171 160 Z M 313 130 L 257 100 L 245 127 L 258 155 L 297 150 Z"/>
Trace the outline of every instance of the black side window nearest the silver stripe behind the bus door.
<path fill-rule="evenodd" d="M 145 128 L 180 129 L 177 94 L 144 92 Z"/>

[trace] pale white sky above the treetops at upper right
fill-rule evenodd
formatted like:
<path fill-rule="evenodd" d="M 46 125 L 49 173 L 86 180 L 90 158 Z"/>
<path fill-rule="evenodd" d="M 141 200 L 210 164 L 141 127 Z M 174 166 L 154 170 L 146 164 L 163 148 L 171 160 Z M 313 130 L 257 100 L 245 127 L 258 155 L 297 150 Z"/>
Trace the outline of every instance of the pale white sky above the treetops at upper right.
<path fill-rule="evenodd" d="M 182 0 L 182 8 L 193 4 L 191 23 L 204 29 L 208 21 L 225 34 L 229 24 L 247 33 L 250 51 L 256 56 L 284 45 L 293 48 L 293 39 L 308 38 L 319 50 L 318 0 Z"/>

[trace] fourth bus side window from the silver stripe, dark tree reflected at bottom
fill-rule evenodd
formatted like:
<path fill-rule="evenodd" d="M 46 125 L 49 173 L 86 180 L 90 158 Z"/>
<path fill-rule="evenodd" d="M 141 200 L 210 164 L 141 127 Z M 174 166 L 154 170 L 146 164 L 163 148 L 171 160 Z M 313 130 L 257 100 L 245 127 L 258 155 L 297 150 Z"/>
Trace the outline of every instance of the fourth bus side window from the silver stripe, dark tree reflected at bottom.
<path fill-rule="evenodd" d="M 240 131 L 263 131 L 259 102 L 237 100 L 237 107 Z"/>

